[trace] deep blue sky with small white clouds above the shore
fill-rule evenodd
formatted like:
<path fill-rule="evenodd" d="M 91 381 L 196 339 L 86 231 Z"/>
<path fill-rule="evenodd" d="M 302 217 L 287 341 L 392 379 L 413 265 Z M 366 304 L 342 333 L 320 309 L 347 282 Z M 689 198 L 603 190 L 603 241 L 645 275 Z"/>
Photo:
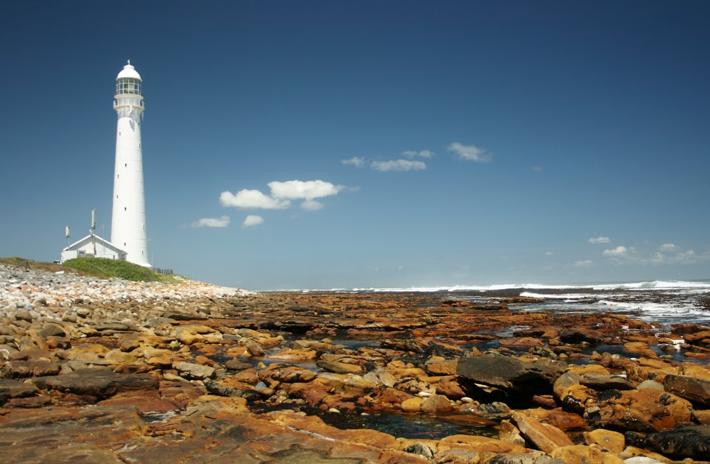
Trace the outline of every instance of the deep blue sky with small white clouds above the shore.
<path fill-rule="evenodd" d="M 3 2 L 0 256 L 111 220 L 252 289 L 710 277 L 706 1 Z M 249 218 L 249 219 L 247 219 Z M 214 227 L 225 226 L 225 227 Z"/>

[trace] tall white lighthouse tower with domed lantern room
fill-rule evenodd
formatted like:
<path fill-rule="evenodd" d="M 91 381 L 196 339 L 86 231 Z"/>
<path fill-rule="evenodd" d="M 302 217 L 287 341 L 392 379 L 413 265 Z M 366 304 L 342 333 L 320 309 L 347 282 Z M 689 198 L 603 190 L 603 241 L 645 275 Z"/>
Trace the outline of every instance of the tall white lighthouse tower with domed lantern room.
<path fill-rule="evenodd" d="M 141 266 L 148 263 L 146 198 L 143 193 L 143 80 L 129 64 L 116 76 L 114 109 L 116 126 L 116 168 L 114 210 L 111 215 L 111 243 L 126 252 L 126 260 Z"/>

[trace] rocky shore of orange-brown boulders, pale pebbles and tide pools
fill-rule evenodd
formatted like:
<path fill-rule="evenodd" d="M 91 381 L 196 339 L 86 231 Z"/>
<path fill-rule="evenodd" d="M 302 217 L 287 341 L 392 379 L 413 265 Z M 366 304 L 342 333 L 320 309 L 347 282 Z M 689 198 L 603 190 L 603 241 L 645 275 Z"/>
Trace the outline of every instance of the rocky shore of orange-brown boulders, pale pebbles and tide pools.
<path fill-rule="evenodd" d="M 3 463 L 702 463 L 710 327 L 0 264 Z"/>

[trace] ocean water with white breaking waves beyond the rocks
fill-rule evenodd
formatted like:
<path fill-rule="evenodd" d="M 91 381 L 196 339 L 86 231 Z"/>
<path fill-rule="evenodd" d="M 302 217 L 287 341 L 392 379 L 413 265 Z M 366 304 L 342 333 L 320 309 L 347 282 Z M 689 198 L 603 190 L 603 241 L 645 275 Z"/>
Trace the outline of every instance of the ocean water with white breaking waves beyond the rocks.
<path fill-rule="evenodd" d="M 529 296 L 542 301 L 521 303 L 525 311 L 614 312 L 633 315 L 663 330 L 672 324 L 710 325 L 710 280 L 600 282 L 584 284 L 501 284 L 401 288 L 333 288 L 346 293 L 441 293 L 442 298 L 486 301 Z"/>

